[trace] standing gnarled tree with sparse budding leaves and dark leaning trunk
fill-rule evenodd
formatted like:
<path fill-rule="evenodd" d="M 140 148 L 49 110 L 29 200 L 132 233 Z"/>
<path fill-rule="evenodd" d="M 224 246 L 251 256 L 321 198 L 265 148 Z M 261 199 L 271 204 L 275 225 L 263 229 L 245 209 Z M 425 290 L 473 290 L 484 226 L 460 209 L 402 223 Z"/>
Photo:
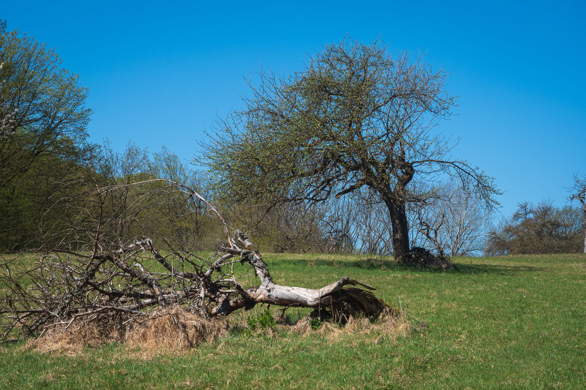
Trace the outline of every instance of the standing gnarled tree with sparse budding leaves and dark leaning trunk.
<path fill-rule="evenodd" d="M 329 44 L 288 77 L 261 71 L 244 108 L 218 120 L 199 162 L 234 201 L 321 202 L 369 187 L 389 209 L 394 256 L 408 261 L 406 205 L 431 196 L 417 183 L 451 175 L 489 204 L 498 194 L 434 131 L 456 105 L 447 75 L 379 42 Z"/>

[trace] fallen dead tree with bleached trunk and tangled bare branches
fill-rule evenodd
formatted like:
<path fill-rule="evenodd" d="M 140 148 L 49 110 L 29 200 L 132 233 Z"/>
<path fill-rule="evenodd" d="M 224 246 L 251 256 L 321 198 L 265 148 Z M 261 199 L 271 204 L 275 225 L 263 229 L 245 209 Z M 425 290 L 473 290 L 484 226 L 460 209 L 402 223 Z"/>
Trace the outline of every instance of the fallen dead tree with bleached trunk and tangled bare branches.
<path fill-rule="evenodd" d="M 134 215 L 136 222 L 139 212 L 126 210 L 124 220 L 105 212 L 108 196 L 128 185 L 96 189 L 86 196 L 91 206 L 81 203 L 87 214 L 84 222 L 72 222 L 67 229 L 67 237 L 91 240 L 78 244 L 76 250 L 70 241 L 4 261 L 0 273 L 2 340 L 42 336 L 80 325 L 97 326 L 102 332 L 128 332 L 161 316 L 161 308 L 176 306 L 210 319 L 266 303 L 283 310 L 311 308 L 314 316 L 342 322 L 350 316 L 377 315 L 388 307 L 370 292 L 373 287 L 349 277 L 320 289 L 276 284 L 246 234 L 240 230 L 230 233 L 222 216 L 193 189 L 163 182 L 165 186 L 149 188 L 136 195 L 140 201 L 129 203 L 140 208 L 145 199 L 161 192 L 205 202 L 226 234 L 213 256 L 203 259 L 188 250 L 176 250 L 168 242 L 159 251 L 148 237 L 113 248 L 108 227 L 120 226 L 128 215 Z M 144 187 L 144 183 L 134 185 Z M 251 278 L 258 283 L 250 285 Z"/>

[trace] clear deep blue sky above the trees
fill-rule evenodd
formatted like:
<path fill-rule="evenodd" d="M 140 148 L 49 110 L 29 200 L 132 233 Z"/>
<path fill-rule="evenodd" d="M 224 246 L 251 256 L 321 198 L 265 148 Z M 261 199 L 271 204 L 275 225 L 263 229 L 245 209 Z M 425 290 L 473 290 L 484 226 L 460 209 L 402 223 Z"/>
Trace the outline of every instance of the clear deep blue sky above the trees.
<path fill-rule="evenodd" d="M 260 64 L 298 70 L 346 34 L 423 49 L 449 70 L 455 155 L 496 177 L 508 215 L 586 173 L 586 3 L 5 1 L 0 16 L 56 47 L 90 88 L 88 131 L 190 158 Z M 471 3 L 476 3 L 471 5 Z"/>

